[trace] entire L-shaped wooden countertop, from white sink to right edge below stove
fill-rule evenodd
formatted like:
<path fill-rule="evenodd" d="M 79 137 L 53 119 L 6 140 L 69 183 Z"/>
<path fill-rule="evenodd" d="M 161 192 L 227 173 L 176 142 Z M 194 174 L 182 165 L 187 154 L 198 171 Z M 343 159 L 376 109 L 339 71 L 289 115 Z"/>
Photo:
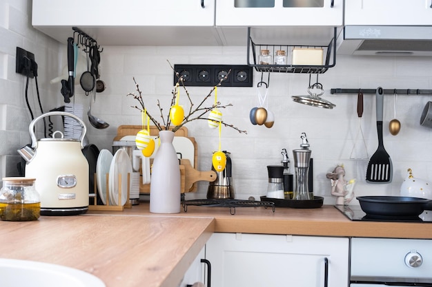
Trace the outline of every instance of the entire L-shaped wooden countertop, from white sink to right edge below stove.
<path fill-rule="evenodd" d="M 0 257 L 78 268 L 107 287 L 175 287 L 211 233 L 270 233 L 432 239 L 432 224 L 353 222 L 334 206 L 230 209 L 188 206 L 173 215 L 141 202 L 124 211 L 0 222 Z"/>

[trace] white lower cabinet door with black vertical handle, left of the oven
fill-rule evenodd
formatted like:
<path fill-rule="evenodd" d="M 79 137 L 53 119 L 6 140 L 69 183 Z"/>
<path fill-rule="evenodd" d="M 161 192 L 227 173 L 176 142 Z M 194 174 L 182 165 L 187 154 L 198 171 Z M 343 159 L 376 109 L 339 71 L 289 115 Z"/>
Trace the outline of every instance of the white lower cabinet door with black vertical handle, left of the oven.
<path fill-rule="evenodd" d="M 214 233 L 206 259 L 212 286 L 348 286 L 348 238 Z"/>

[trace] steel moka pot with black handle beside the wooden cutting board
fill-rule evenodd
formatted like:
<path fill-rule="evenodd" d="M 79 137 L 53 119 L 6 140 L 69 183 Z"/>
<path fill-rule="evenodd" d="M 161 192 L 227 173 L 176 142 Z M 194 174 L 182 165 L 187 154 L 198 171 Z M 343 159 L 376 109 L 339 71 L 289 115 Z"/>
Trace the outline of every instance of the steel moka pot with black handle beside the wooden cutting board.
<path fill-rule="evenodd" d="M 208 184 L 207 199 L 234 199 L 235 192 L 233 187 L 233 164 L 228 151 L 223 151 L 226 155 L 226 167 L 223 171 L 216 171 L 212 164 L 212 171 L 215 171 L 217 178 Z"/>

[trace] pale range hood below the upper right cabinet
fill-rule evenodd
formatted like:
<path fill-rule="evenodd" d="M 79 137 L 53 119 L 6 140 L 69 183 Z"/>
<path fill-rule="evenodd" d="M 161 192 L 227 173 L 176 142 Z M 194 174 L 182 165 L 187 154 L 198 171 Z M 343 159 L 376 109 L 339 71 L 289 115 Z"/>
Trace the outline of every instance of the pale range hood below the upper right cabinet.
<path fill-rule="evenodd" d="M 432 26 L 346 25 L 337 54 L 432 56 Z"/>

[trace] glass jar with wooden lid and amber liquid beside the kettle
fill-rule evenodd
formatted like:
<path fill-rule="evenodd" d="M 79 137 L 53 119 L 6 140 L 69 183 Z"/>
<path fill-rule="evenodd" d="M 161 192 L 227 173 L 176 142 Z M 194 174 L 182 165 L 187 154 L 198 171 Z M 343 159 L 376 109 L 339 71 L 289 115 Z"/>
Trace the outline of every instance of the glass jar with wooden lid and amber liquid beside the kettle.
<path fill-rule="evenodd" d="M 37 220 L 41 200 L 35 178 L 3 178 L 0 191 L 0 219 L 6 221 Z"/>

